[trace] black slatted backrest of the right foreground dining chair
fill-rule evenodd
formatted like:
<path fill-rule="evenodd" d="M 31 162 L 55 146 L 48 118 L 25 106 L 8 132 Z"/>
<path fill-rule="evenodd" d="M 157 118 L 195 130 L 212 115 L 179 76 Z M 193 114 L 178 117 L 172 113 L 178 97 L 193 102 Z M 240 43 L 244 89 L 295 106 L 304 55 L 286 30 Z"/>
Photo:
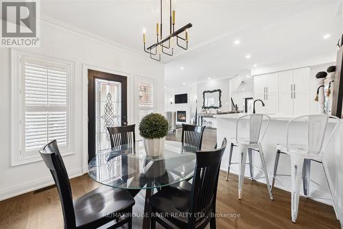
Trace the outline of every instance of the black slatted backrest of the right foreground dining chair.
<path fill-rule="evenodd" d="M 209 216 L 215 210 L 220 162 L 227 145 L 226 138 L 222 147 L 213 151 L 196 152 L 196 171 L 191 190 L 189 222 L 194 226 L 201 217 Z M 198 215 L 198 218 L 197 218 Z"/>

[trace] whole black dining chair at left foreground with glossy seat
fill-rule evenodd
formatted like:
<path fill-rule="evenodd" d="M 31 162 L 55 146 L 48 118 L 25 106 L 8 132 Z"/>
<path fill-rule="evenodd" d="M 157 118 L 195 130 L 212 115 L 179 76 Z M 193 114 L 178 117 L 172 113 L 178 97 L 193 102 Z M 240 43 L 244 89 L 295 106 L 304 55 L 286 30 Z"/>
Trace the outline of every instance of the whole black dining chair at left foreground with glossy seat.
<path fill-rule="evenodd" d="M 113 220 L 116 223 L 110 228 L 119 228 L 126 223 L 128 228 L 132 228 L 134 199 L 128 191 L 100 186 L 73 201 L 69 177 L 57 141 L 51 141 L 39 153 L 57 186 L 65 229 L 93 229 Z"/>

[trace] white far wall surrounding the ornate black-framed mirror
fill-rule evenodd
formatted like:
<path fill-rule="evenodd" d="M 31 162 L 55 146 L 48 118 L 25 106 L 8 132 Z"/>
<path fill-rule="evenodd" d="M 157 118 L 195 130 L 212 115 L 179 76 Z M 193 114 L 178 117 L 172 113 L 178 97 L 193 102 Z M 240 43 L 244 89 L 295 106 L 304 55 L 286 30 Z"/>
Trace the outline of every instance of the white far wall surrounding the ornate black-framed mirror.
<path fill-rule="evenodd" d="M 201 82 L 197 84 L 197 97 L 198 97 L 198 110 L 201 111 L 202 104 L 204 102 L 204 98 L 202 93 L 204 91 L 220 89 L 222 90 L 222 108 L 221 111 L 228 111 L 230 110 L 230 80 L 229 79 L 222 79 L 222 80 L 209 80 L 209 82 Z M 214 110 L 214 109 L 210 109 Z"/>

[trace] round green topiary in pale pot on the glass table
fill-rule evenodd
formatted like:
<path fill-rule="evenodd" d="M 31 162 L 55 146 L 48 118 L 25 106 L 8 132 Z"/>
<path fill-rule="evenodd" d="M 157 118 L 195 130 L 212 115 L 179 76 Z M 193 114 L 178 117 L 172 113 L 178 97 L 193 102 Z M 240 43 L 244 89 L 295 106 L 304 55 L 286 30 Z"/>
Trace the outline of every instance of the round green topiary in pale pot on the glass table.
<path fill-rule="evenodd" d="M 165 136 L 168 133 L 168 121 L 158 113 L 146 115 L 139 123 L 139 134 L 148 156 L 160 156 L 164 152 Z"/>

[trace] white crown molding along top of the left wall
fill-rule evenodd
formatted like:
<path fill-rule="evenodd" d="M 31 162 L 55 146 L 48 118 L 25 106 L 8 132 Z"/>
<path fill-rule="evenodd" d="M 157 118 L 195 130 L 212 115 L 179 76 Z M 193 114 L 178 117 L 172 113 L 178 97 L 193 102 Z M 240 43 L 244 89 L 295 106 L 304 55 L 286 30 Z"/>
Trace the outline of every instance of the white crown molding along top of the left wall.
<path fill-rule="evenodd" d="M 115 40 L 104 38 L 103 36 L 98 36 L 97 34 L 93 34 L 92 32 L 88 32 L 88 31 L 81 29 L 79 27 L 75 27 L 75 26 L 70 25 L 68 23 L 58 21 L 58 20 L 53 19 L 53 18 L 46 16 L 44 14 L 40 14 L 40 21 L 44 21 L 45 23 L 48 23 L 49 25 L 53 25 L 53 26 L 59 27 L 61 29 L 66 29 L 68 32 L 72 32 L 73 34 L 77 34 L 79 36 L 84 36 L 86 38 L 90 38 L 90 39 L 95 40 L 99 43 L 102 43 L 105 45 L 110 45 L 111 47 L 115 47 L 117 49 L 121 49 L 121 51 L 125 51 L 126 53 L 133 54 L 134 56 L 144 58 L 145 60 L 151 60 L 149 57 L 143 55 L 143 52 L 140 53 L 139 51 L 137 51 L 136 49 L 132 49 L 128 45 L 123 45 L 121 43 L 117 43 Z M 163 64 L 163 62 L 160 62 L 159 64 Z"/>

